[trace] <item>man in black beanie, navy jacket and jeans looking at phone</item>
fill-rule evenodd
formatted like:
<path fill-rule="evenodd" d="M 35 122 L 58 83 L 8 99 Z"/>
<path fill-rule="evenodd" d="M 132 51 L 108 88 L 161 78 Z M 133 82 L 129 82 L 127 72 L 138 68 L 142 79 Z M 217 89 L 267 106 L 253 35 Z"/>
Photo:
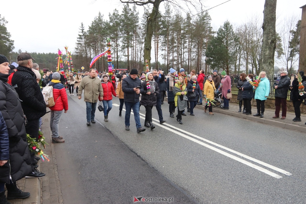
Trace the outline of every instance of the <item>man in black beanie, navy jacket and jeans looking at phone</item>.
<path fill-rule="evenodd" d="M 139 116 L 139 96 L 144 88 L 141 85 L 141 80 L 137 78 L 137 75 L 138 71 L 132 69 L 129 76 L 122 80 L 122 91 L 124 92 L 125 104 L 125 130 L 130 130 L 130 115 L 131 109 L 133 108 L 137 133 L 140 133 L 146 130 L 144 127 L 141 127 Z"/>

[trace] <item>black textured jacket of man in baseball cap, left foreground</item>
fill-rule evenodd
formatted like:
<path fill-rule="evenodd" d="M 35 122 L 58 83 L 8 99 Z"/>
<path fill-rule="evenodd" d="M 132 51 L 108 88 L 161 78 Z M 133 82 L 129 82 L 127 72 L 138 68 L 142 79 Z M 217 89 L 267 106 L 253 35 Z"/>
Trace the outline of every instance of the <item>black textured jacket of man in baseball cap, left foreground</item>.
<path fill-rule="evenodd" d="M 12 85 L 15 87 L 21 106 L 28 120 L 39 119 L 46 114 L 46 103 L 36 82 L 35 73 L 28 67 L 18 66 L 13 75 Z"/>

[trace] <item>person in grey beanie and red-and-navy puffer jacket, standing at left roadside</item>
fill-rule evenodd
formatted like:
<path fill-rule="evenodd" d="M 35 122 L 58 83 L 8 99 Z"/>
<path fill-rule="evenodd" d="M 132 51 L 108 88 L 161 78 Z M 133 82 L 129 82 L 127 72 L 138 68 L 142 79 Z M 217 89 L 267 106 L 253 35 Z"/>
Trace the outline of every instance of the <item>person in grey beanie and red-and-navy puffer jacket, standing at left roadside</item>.
<path fill-rule="evenodd" d="M 63 137 L 58 135 L 58 123 L 61 119 L 63 109 L 64 113 L 68 111 L 68 99 L 67 93 L 64 85 L 61 83 L 60 74 L 54 72 L 52 75 L 52 80 L 49 83 L 49 86 L 53 86 L 53 98 L 55 105 L 50 107 L 50 128 L 52 131 L 52 143 L 62 143 L 65 142 Z"/>

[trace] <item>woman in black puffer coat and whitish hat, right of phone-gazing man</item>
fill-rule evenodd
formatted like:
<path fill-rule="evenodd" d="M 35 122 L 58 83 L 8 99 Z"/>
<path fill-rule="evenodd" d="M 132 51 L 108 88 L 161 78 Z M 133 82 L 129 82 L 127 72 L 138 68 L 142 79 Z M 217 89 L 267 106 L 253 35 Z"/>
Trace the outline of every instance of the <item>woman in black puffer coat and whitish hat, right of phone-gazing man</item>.
<path fill-rule="evenodd" d="M 153 130 L 155 126 L 152 123 L 152 108 L 153 106 L 156 106 L 156 96 L 159 94 L 159 88 L 157 82 L 153 79 L 152 72 L 147 73 L 146 81 L 142 82 L 141 85 L 144 90 L 141 92 L 140 104 L 146 108 L 146 119 L 144 120 L 144 126 L 150 127 L 151 130 Z"/>

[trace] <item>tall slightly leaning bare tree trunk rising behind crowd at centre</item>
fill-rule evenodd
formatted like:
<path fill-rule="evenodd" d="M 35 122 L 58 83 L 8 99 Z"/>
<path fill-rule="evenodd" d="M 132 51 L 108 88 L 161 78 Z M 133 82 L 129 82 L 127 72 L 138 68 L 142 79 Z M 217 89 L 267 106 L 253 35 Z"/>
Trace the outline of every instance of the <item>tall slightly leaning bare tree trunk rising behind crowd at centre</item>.
<path fill-rule="evenodd" d="M 151 41 L 153 36 L 153 30 L 155 21 L 157 19 L 157 16 L 159 14 L 159 4 L 160 0 L 156 0 L 153 3 L 153 9 L 150 17 L 147 19 L 147 30 L 146 30 L 146 36 L 144 37 L 144 68 L 143 70 L 146 70 L 146 62 L 145 59 L 148 59 L 148 65 L 150 67 L 151 63 Z"/>

